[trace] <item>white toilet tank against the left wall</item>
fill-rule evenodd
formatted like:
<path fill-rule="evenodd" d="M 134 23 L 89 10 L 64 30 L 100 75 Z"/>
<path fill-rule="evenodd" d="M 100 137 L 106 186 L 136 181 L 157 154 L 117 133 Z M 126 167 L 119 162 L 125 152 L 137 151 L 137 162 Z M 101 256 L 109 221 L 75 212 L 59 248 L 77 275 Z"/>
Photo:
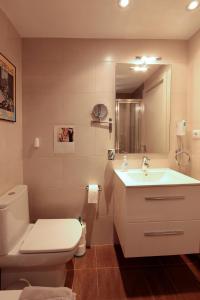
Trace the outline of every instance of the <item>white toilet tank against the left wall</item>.
<path fill-rule="evenodd" d="M 28 189 L 17 185 L 0 197 L 0 255 L 14 247 L 28 224 Z"/>

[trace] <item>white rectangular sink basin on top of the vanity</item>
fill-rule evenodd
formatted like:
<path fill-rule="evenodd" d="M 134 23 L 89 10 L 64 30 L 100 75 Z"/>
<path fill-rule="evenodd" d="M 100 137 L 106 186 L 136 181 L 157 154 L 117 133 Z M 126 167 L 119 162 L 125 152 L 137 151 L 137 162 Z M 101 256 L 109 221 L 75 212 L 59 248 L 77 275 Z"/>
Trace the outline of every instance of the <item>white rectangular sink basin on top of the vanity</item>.
<path fill-rule="evenodd" d="M 125 186 L 200 185 L 200 181 L 172 169 L 129 169 L 114 170 Z"/>

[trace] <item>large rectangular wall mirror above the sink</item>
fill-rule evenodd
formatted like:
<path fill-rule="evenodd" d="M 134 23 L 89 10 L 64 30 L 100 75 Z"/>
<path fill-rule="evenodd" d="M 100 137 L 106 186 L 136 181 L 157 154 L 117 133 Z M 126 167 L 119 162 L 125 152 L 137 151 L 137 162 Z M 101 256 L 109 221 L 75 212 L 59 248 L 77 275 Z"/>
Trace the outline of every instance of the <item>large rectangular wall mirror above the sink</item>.
<path fill-rule="evenodd" d="M 118 153 L 169 152 L 171 66 L 116 64 Z"/>

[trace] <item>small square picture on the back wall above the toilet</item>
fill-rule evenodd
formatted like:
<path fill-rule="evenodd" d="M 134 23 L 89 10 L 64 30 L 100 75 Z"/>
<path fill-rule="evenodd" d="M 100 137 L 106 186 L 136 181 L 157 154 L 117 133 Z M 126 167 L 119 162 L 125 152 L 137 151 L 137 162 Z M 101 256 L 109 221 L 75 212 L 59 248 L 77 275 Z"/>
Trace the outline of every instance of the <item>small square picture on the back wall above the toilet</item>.
<path fill-rule="evenodd" d="M 74 153 L 74 126 L 54 126 L 54 153 Z"/>

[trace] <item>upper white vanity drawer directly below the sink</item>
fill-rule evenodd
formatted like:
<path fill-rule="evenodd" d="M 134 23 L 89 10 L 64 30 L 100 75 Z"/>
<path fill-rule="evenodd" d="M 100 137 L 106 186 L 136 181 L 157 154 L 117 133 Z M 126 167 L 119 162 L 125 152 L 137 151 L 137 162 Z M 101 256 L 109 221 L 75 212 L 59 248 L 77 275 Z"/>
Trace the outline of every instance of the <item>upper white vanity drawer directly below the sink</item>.
<path fill-rule="evenodd" d="M 130 188 L 125 202 L 128 222 L 200 218 L 199 186 Z"/>

